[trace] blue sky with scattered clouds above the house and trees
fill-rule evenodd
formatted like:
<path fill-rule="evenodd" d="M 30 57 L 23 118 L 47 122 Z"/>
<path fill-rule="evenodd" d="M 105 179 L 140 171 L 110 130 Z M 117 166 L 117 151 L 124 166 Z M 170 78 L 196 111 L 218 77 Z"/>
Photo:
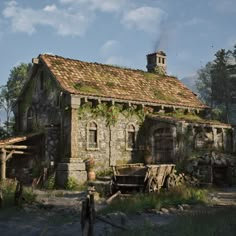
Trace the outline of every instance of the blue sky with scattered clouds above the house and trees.
<path fill-rule="evenodd" d="M 236 0 L 0 2 L 0 85 L 40 53 L 146 70 L 162 49 L 180 79 L 236 43 Z"/>

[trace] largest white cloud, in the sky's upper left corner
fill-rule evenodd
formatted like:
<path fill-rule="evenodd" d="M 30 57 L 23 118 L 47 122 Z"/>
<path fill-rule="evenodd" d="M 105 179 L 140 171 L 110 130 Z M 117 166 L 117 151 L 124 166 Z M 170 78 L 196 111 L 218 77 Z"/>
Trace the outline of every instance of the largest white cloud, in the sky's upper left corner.
<path fill-rule="evenodd" d="M 55 4 L 34 10 L 22 8 L 15 1 L 7 3 L 3 16 L 11 20 L 14 32 L 28 34 L 34 33 L 37 26 L 43 25 L 52 27 L 60 35 L 82 36 L 92 20 L 92 14 L 88 18 L 81 11 L 58 9 Z"/>

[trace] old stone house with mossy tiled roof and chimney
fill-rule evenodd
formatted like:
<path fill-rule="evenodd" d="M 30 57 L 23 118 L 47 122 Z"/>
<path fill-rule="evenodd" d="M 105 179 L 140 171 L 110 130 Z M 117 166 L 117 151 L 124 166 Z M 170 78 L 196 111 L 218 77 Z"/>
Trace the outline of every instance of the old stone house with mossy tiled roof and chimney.
<path fill-rule="evenodd" d="M 205 120 L 208 107 L 177 78 L 166 55 L 147 55 L 148 72 L 41 54 L 15 106 L 19 133 L 44 135 L 42 160 L 64 185 L 112 165 L 176 163 L 195 149 L 233 151 L 230 125 Z"/>

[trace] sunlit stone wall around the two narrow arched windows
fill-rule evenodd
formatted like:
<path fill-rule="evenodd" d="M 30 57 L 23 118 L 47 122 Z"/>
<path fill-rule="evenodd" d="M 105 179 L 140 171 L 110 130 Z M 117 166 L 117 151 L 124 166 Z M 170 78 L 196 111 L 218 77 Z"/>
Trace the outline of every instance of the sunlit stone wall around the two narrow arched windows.
<path fill-rule="evenodd" d="M 88 125 L 90 122 L 97 124 L 98 146 L 88 146 Z M 143 140 L 140 140 L 140 120 L 136 115 L 126 118 L 120 114 L 114 125 L 107 125 L 105 117 L 93 114 L 84 114 L 82 119 L 78 120 L 78 153 L 79 158 L 85 160 L 94 157 L 95 167 L 104 170 L 112 165 L 123 163 L 143 161 Z M 133 149 L 127 146 L 127 127 L 135 127 L 135 147 Z"/>

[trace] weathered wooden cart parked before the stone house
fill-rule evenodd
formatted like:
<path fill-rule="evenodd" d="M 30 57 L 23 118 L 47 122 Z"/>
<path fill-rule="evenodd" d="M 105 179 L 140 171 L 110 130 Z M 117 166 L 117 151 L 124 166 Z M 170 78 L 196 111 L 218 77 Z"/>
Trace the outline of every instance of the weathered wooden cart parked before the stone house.
<path fill-rule="evenodd" d="M 111 192 L 118 190 L 158 192 L 166 184 L 171 186 L 174 164 L 144 165 L 142 163 L 113 166 Z"/>

